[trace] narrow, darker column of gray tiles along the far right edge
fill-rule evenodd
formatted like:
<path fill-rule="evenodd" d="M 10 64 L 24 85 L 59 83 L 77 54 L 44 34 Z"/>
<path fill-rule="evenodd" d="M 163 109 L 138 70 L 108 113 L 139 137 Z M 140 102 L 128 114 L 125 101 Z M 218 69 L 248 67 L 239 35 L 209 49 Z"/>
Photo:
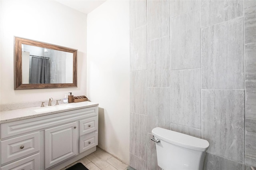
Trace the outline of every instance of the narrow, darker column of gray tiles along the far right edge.
<path fill-rule="evenodd" d="M 256 167 L 256 1 L 244 0 L 245 164 Z"/>

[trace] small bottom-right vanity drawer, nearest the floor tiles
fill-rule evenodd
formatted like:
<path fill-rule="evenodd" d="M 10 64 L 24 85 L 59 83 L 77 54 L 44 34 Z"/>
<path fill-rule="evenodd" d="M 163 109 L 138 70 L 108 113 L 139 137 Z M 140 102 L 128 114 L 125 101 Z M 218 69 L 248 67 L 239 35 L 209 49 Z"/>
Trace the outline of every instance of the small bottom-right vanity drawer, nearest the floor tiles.
<path fill-rule="evenodd" d="M 98 132 L 92 132 L 79 138 L 79 153 L 98 145 Z"/>

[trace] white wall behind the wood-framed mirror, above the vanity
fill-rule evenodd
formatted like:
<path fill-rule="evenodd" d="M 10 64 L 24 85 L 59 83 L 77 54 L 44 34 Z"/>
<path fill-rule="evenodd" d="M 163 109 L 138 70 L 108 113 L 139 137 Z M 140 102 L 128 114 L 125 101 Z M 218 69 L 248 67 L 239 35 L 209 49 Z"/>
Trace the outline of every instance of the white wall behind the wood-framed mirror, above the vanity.
<path fill-rule="evenodd" d="M 86 14 L 48 0 L 1 0 L 0 104 L 86 95 Z M 78 49 L 78 88 L 14 90 L 14 36 Z"/>

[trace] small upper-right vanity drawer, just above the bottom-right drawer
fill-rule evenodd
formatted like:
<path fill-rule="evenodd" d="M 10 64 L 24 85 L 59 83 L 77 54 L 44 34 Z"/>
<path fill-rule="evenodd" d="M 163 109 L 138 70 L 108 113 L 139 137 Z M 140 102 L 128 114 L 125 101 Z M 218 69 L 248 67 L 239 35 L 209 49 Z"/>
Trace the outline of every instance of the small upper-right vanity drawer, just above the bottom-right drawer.
<path fill-rule="evenodd" d="M 93 132 L 95 130 L 98 130 L 98 117 L 92 117 L 89 119 L 84 119 L 82 121 L 79 121 L 80 136 Z"/>

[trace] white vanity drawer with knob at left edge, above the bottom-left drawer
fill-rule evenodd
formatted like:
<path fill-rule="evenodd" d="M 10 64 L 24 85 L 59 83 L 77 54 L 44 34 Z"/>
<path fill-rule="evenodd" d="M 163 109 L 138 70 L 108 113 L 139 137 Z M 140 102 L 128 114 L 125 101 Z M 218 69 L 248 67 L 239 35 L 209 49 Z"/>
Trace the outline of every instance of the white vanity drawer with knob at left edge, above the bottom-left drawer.
<path fill-rule="evenodd" d="M 39 132 L 2 140 L 1 164 L 39 151 Z"/>

